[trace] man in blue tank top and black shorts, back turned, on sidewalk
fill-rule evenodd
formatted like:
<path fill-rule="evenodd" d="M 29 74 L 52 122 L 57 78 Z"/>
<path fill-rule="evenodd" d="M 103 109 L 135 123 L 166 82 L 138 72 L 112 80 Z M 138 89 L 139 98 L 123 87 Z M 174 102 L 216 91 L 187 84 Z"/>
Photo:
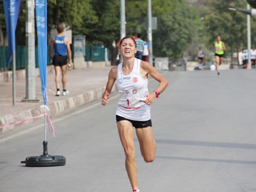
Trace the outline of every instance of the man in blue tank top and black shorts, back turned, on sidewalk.
<path fill-rule="evenodd" d="M 67 83 L 67 64 L 72 62 L 71 57 L 71 49 L 70 49 L 70 42 L 68 37 L 63 35 L 64 27 L 63 25 L 59 24 L 57 26 L 58 34 L 52 37 L 51 39 L 51 46 L 50 46 L 50 56 L 52 58 L 52 63 L 54 65 L 55 70 L 55 83 L 56 83 L 56 96 L 60 95 L 59 90 L 59 77 L 60 73 L 62 74 L 62 95 L 68 95 L 69 91 L 66 90 L 66 83 Z M 53 55 L 53 47 L 54 47 L 54 55 Z M 67 62 L 67 51 L 69 54 L 69 61 Z"/>

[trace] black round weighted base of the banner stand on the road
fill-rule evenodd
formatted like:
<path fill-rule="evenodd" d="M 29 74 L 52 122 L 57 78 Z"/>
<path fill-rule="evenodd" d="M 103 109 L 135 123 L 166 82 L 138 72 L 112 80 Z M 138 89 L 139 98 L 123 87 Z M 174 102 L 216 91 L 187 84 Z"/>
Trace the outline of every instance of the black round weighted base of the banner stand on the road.
<path fill-rule="evenodd" d="M 42 142 L 44 145 L 44 154 L 41 156 L 27 157 L 25 161 L 27 167 L 46 167 L 46 166 L 63 166 L 66 164 L 66 158 L 59 155 L 48 155 L 47 141 Z"/>

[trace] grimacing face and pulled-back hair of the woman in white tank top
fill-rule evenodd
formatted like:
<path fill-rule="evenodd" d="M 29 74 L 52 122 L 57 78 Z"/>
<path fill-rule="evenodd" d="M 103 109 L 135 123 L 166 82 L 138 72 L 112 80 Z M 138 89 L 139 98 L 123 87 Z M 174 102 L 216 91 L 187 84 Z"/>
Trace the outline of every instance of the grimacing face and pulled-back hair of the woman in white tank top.
<path fill-rule="evenodd" d="M 130 38 L 124 39 L 119 49 L 122 57 L 127 57 L 127 58 L 134 57 L 134 54 L 137 51 L 134 41 Z"/>

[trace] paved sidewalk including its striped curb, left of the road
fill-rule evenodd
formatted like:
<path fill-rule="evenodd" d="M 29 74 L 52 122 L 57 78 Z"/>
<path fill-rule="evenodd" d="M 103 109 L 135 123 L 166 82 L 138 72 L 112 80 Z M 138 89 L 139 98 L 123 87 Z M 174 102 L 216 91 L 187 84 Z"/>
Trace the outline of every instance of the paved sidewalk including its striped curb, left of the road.
<path fill-rule="evenodd" d="M 69 70 L 67 72 L 67 89 L 70 91 L 68 96 L 61 95 L 56 97 L 50 91 L 47 91 L 50 117 L 100 98 L 108 81 L 111 67 Z M 47 88 L 56 92 L 54 70 L 50 68 L 49 71 Z M 0 82 L 0 125 L 30 119 L 44 113 L 40 109 L 40 105 L 44 104 L 44 100 L 42 99 L 39 76 L 36 76 L 35 89 L 36 97 L 40 102 L 21 102 L 26 96 L 26 77 L 20 75 L 16 80 L 16 106 L 12 106 L 12 80 Z M 62 94 L 62 84 L 60 91 Z M 116 91 L 115 86 L 113 91 Z M 14 129 L 14 126 L 16 125 L 0 128 L 0 134 Z"/>

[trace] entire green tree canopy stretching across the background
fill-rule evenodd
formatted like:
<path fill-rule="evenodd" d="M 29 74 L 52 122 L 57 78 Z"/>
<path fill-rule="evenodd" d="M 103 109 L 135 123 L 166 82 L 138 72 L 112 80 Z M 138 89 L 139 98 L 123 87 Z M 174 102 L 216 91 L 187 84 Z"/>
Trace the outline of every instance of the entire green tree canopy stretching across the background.
<path fill-rule="evenodd" d="M 191 6 L 194 5 L 194 6 Z M 222 35 L 228 50 L 246 46 L 246 15 L 228 7 L 246 7 L 241 0 L 152 0 L 152 16 L 157 17 L 153 30 L 155 56 L 181 57 L 187 49 L 204 44 L 211 49 L 217 35 Z M 125 1 L 126 35 L 147 35 L 147 1 Z M 251 34 L 256 25 L 251 19 Z M 87 44 L 113 49 L 120 38 L 120 0 L 48 0 L 48 32 L 59 23 L 72 29 L 73 35 L 86 35 Z M 25 45 L 26 2 L 20 6 L 16 29 L 17 45 Z M 3 3 L 0 3 L 0 45 L 5 45 L 6 26 Z M 255 39 L 252 39 L 254 44 Z"/>

